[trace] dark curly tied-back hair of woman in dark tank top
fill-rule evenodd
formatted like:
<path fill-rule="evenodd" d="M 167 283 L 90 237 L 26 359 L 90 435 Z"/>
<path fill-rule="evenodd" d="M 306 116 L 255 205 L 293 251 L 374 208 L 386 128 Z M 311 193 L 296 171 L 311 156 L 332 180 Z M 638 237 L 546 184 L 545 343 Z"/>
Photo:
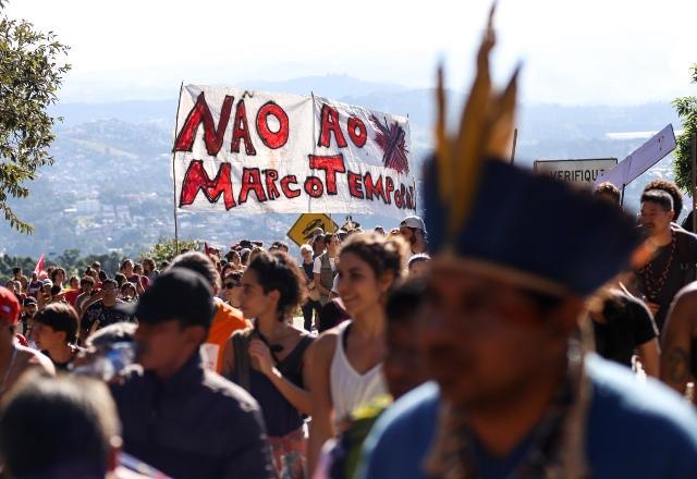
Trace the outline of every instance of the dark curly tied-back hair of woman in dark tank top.
<path fill-rule="evenodd" d="M 284 251 L 260 250 L 247 267 L 254 271 L 265 294 L 277 290 L 280 293 L 277 312 L 283 321 L 297 305 L 305 300 L 305 275 L 293 258 Z"/>

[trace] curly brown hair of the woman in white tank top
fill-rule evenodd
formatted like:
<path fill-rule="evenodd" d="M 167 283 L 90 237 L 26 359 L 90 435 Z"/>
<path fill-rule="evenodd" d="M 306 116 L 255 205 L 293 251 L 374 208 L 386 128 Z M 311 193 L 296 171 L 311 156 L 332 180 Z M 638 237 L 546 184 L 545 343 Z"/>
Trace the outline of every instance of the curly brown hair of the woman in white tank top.
<path fill-rule="evenodd" d="M 341 254 L 353 253 L 367 262 L 376 278 L 380 279 L 386 272 L 394 274 L 394 287 L 402 279 L 406 243 L 402 237 L 386 238 L 375 232 L 352 234 L 341 245 Z"/>

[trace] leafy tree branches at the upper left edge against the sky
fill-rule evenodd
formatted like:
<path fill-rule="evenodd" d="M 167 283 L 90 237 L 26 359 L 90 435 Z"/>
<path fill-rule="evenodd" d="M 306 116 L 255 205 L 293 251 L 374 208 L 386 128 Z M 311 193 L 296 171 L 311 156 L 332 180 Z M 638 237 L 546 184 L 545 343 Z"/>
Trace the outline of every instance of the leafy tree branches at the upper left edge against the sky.
<path fill-rule="evenodd" d="M 0 9 L 3 3 L 0 2 Z M 41 33 L 24 20 L 0 16 L 0 212 L 10 225 L 30 233 L 9 205 L 26 198 L 25 182 L 38 168 L 52 164 L 48 148 L 54 139 L 47 109 L 58 100 L 58 89 L 70 65 L 68 47 L 52 32 Z"/>

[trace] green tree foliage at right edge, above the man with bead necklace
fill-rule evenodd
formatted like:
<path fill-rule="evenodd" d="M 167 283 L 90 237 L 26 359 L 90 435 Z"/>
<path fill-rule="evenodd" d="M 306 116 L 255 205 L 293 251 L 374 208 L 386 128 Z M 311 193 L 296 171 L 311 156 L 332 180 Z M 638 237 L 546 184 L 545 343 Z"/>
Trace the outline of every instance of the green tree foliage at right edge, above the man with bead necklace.
<path fill-rule="evenodd" d="M 697 84 L 697 63 L 689 70 L 692 83 Z M 675 107 L 684 128 L 683 134 L 677 137 L 677 147 L 673 152 L 675 157 L 675 162 L 673 163 L 675 183 L 681 189 L 693 196 L 690 143 L 693 135 L 697 134 L 697 96 L 676 98 L 673 100 L 673 107 Z"/>

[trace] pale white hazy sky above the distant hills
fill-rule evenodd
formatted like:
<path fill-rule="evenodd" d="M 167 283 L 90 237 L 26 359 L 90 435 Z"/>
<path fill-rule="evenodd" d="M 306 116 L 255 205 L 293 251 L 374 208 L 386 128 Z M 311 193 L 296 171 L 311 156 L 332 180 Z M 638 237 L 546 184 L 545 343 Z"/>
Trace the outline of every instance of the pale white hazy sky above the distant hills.
<path fill-rule="evenodd" d="M 70 45 L 63 101 L 171 98 L 181 81 L 347 74 L 431 86 L 469 82 L 488 0 L 348 2 L 10 0 L 5 14 Z M 527 102 L 643 103 L 696 94 L 695 0 L 501 0 L 496 77 L 523 61 Z M 692 37 L 692 38 L 690 38 Z"/>

